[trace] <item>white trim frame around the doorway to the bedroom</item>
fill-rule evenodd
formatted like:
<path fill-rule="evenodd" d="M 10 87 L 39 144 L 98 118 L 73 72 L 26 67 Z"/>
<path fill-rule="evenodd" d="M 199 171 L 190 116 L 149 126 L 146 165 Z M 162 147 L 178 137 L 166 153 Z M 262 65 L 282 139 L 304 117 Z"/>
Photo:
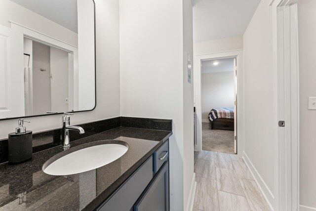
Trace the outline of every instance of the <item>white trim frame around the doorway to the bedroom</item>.
<path fill-rule="evenodd" d="M 202 151 L 202 108 L 201 108 L 201 61 L 207 59 L 219 58 L 237 58 L 237 154 L 242 155 L 243 152 L 243 50 L 229 50 L 214 52 L 208 54 L 195 55 L 194 58 L 194 93 L 195 107 L 197 111 L 197 145 L 196 151 Z"/>

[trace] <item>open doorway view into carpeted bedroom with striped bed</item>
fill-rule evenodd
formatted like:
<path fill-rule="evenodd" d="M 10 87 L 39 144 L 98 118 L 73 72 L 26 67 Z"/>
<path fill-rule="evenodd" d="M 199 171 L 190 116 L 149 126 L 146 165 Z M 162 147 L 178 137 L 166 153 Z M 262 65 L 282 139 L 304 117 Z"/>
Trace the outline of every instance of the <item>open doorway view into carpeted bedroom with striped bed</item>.
<path fill-rule="evenodd" d="M 237 153 L 236 58 L 201 61 L 202 150 Z"/>

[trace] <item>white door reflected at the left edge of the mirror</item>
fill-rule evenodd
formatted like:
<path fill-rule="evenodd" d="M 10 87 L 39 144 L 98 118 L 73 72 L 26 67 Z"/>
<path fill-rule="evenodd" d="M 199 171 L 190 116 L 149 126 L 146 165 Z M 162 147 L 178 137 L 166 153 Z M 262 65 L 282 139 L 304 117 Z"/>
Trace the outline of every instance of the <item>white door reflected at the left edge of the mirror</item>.
<path fill-rule="evenodd" d="M 0 119 L 24 114 L 23 34 L 0 25 Z"/>

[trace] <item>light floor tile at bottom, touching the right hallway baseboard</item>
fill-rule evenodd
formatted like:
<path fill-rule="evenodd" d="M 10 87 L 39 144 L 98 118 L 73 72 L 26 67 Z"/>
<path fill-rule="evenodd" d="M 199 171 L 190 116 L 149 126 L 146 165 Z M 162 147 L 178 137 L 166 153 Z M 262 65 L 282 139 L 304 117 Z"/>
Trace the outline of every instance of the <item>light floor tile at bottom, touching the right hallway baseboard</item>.
<path fill-rule="evenodd" d="M 254 180 L 239 178 L 239 181 L 252 211 L 271 211 Z"/>

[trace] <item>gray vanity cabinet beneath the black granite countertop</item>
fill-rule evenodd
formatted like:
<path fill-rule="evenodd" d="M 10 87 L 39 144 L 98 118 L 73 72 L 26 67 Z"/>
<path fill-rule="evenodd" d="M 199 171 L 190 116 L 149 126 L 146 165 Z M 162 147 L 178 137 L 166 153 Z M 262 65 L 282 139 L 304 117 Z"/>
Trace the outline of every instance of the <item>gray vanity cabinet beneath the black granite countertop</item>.
<path fill-rule="evenodd" d="M 96 211 L 169 211 L 169 141 Z"/>

